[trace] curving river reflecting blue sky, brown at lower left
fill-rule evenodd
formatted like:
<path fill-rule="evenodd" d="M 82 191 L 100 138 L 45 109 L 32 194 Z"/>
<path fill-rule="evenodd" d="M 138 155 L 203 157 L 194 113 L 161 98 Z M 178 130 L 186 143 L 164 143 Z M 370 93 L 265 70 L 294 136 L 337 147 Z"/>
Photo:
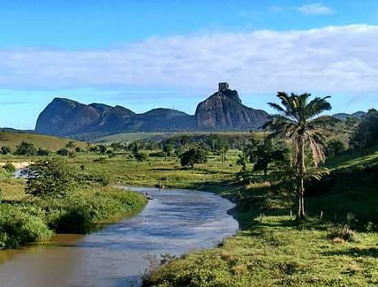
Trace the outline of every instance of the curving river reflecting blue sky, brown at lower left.
<path fill-rule="evenodd" d="M 130 188 L 154 197 L 135 216 L 87 236 L 0 251 L 1 287 L 140 286 L 159 255 L 216 246 L 238 223 L 229 200 L 208 192 Z"/>

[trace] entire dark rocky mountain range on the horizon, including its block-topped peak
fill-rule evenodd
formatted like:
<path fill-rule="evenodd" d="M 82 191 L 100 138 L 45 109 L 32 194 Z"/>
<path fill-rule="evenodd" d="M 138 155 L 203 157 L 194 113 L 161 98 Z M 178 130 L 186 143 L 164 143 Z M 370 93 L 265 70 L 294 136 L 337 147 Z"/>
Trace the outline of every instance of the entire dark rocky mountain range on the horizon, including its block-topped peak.
<path fill-rule="evenodd" d="M 122 106 L 81 104 L 56 97 L 36 122 L 36 133 L 58 136 L 87 133 L 256 130 L 269 114 L 244 106 L 237 91 L 227 83 L 199 103 L 195 115 L 170 108 L 137 114 Z"/>

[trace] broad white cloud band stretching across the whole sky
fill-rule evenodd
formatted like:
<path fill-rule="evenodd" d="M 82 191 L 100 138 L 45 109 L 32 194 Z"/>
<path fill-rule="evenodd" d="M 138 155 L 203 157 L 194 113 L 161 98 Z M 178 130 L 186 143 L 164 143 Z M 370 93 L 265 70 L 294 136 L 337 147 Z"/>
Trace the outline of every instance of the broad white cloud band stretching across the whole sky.
<path fill-rule="evenodd" d="M 378 91 L 378 26 L 149 38 L 107 50 L 0 50 L 0 86 L 139 87 L 242 94 Z"/>

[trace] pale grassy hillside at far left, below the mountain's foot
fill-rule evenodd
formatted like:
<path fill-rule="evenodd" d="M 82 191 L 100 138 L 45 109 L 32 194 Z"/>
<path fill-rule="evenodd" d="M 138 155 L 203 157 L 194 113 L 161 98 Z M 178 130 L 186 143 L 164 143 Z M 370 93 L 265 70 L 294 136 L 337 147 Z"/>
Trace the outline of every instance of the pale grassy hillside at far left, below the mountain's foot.
<path fill-rule="evenodd" d="M 64 139 L 61 137 L 51 137 L 49 135 L 37 135 L 33 133 L 17 133 L 17 132 L 0 132 L 0 147 L 10 146 L 12 150 L 18 146 L 21 141 L 28 143 L 34 143 L 36 148 L 43 148 L 47 150 L 56 151 L 60 148 L 64 148 L 70 139 Z M 86 148 L 87 143 L 80 141 L 75 142 L 76 146 Z"/>

